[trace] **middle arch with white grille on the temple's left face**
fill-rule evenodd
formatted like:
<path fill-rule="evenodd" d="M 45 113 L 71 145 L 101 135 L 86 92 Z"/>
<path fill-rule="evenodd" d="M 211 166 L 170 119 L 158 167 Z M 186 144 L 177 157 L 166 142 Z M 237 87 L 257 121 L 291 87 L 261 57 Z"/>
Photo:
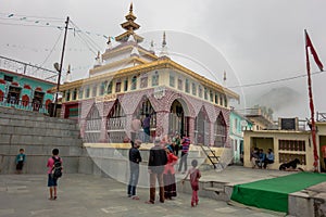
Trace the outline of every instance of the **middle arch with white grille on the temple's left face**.
<path fill-rule="evenodd" d="M 127 142 L 126 114 L 118 100 L 114 102 L 106 120 L 109 142 Z"/>

